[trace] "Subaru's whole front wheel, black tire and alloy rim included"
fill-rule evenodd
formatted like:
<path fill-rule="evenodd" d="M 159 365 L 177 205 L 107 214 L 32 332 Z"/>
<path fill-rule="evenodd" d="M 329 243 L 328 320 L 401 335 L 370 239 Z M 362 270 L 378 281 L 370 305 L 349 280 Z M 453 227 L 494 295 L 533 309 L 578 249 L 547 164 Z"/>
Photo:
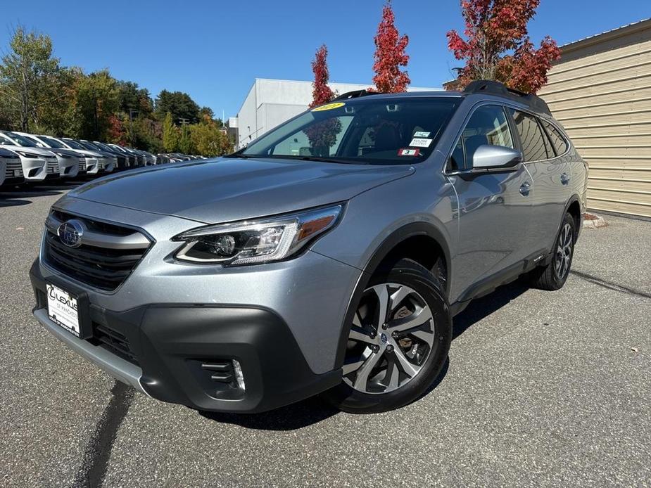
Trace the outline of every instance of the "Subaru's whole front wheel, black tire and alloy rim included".
<path fill-rule="evenodd" d="M 452 340 L 438 279 L 417 262 L 400 259 L 374 274 L 357 307 L 342 383 L 324 396 L 349 413 L 384 412 L 415 401 L 441 372 Z"/>

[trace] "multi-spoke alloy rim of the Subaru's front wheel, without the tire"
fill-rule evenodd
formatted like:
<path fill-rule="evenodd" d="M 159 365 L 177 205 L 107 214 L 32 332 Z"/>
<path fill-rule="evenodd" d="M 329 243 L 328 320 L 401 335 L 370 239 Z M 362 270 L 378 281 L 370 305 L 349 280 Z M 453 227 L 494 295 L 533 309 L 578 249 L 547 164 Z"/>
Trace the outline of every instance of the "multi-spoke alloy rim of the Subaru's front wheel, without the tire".
<path fill-rule="evenodd" d="M 422 370 L 435 333 L 431 310 L 414 289 L 398 283 L 367 288 L 348 335 L 344 382 L 368 394 L 403 387 Z"/>

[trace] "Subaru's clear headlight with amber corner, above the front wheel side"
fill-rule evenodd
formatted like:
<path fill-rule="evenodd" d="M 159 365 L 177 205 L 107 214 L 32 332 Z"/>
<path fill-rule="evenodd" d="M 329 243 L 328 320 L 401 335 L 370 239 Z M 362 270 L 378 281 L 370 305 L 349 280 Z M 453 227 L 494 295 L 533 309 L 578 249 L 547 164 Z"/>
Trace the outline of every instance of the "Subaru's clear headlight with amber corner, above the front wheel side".
<path fill-rule="evenodd" d="M 269 219 L 201 227 L 173 240 L 186 244 L 176 259 L 225 266 L 279 261 L 296 254 L 338 221 L 343 205 Z"/>

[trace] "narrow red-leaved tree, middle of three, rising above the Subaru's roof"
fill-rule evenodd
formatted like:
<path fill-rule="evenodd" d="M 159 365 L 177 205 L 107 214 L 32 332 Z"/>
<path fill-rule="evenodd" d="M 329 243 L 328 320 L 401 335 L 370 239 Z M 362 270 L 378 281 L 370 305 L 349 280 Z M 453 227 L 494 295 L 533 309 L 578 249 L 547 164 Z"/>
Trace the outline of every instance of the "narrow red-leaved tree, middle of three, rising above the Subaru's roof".
<path fill-rule="evenodd" d="M 396 15 L 393 14 L 391 0 L 388 0 L 382 9 L 382 20 L 377 26 L 373 64 L 373 83 L 375 89 L 382 93 L 407 91 L 407 85 L 411 82 L 407 72 L 400 70 L 401 66 L 409 63 L 409 56 L 405 53 L 409 37 L 400 37 L 395 23 Z"/>

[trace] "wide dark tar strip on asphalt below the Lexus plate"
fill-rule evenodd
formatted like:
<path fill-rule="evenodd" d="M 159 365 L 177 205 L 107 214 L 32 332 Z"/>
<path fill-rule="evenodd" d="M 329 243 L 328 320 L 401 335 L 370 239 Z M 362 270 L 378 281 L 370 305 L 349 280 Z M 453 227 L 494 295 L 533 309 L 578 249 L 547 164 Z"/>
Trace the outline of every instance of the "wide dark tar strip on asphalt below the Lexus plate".
<path fill-rule="evenodd" d="M 108 468 L 110 451 L 118 435 L 118 428 L 127 416 L 133 401 L 133 388 L 119 381 L 115 381 L 110 392 L 112 395 L 110 401 L 97 421 L 95 431 L 84 451 L 84 460 L 72 484 L 75 488 L 101 486 Z"/>

